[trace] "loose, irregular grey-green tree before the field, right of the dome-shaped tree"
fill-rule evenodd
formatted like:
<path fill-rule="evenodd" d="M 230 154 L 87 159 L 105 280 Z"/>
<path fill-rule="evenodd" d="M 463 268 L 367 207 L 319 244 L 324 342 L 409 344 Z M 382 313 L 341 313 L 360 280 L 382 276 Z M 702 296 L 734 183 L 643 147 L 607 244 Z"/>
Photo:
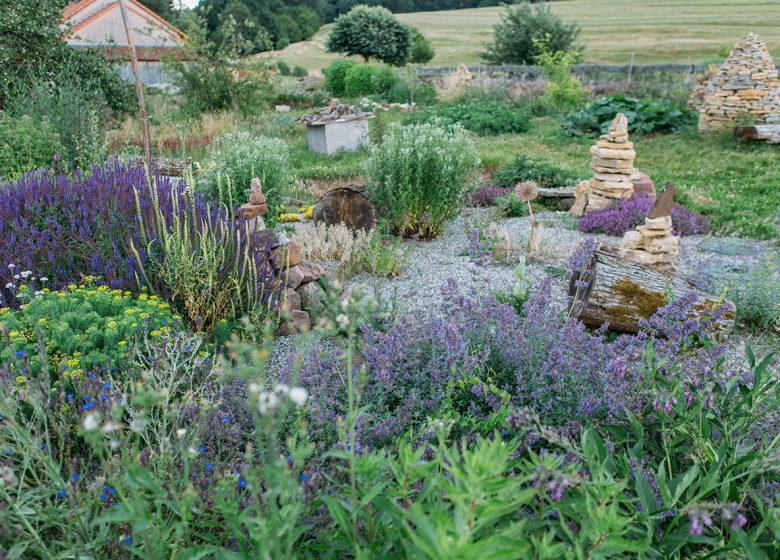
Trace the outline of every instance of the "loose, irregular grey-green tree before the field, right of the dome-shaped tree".
<path fill-rule="evenodd" d="M 576 44 L 579 35 L 576 23 L 565 23 L 546 4 L 507 6 L 482 58 L 490 64 L 533 64 L 545 46 L 551 52 L 574 53 L 576 62 L 583 50 Z"/>

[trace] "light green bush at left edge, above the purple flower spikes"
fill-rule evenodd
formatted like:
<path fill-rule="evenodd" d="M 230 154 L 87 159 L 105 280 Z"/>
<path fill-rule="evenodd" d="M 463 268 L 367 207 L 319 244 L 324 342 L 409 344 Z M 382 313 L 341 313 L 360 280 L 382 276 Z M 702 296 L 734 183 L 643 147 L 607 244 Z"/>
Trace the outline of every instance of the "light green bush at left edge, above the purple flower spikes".
<path fill-rule="evenodd" d="M 36 124 L 27 115 L 11 117 L 0 112 L 0 176 L 13 179 L 48 165 L 61 151 L 60 137 L 49 121 Z"/>

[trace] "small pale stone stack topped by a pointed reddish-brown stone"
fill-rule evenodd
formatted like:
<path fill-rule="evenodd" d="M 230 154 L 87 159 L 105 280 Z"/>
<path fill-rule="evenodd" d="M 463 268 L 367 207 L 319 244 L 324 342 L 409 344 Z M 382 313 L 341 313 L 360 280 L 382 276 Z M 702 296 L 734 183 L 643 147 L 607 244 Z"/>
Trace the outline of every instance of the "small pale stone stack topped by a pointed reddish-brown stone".
<path fill-rule="evenodd" d="M 674 273 L 680 255 L 680 237 L 672 235 L 670 212 L 674 204 L 674 185 L 666 183 L 645 223 L 627 231 L 620 243 L 620 256 L 639 264 L 652 265 L 662 272 Z"/>

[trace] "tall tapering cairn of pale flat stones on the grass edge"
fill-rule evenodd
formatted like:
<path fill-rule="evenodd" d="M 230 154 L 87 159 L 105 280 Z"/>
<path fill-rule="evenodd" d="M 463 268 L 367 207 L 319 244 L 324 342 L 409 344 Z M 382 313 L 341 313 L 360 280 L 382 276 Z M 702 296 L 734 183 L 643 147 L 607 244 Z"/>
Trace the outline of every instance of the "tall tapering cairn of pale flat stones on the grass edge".
<path fill-rule="evenodd" d="M 609 131 L 591 146 L 590 153 L 593 155 L 590 167 L 595 174 L 574 189 L 575 202 L 570 212 L 575 216 L 581 216 L 586 208 L 606 208 L 634 194 L 632 180 L 638 177 L 634 169 L 636 152 L 628 140 L 628 119 L 623 113 L 615 116 Z"/>

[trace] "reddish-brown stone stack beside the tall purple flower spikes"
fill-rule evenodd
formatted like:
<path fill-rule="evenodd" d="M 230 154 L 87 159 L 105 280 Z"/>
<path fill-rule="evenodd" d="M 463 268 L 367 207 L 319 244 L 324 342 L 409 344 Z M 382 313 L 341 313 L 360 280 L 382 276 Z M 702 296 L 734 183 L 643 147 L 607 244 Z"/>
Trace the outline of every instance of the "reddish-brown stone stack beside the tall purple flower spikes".
<path fill-rule="evenodd" d="M 284 283 L 282 311 L 288 314 L 290 320 L 282 324 L 280 333 L 293 334 L 309 330 L 311 317 L 305 308 L 324 295 L 317 280 L 325 273 L 325 269 L 316 263 L 303 261 L 298 242 L 290 241 L 266 228 L 263 215 L 267 212 L 268 202 L 263 194 L 262 183 L 255 177 L 251 183 L 249 202 L 239 208 L 238 218 L 247 221 L 254 250 L 270 249 L 271 268 Z"/>

